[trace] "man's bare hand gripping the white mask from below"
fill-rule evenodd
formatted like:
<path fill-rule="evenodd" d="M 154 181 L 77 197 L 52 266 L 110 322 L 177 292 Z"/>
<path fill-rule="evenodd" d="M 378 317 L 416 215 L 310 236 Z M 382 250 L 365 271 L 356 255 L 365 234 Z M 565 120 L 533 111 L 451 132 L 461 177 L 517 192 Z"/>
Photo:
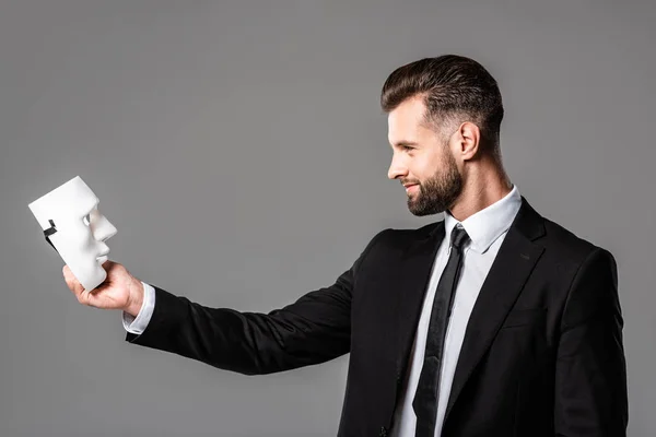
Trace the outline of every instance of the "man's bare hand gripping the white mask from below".
<path fill-rule="evenodd" d="M 68 265 L 63 267 L 63 279 L 80 304 L 103 309 L 121 309 L 137 317 L 143 303 L 141 281 L 114 261 L 105 261 L 103 269 L 107 272 L 107 277 L 91 291 L 84 291 Z"/>

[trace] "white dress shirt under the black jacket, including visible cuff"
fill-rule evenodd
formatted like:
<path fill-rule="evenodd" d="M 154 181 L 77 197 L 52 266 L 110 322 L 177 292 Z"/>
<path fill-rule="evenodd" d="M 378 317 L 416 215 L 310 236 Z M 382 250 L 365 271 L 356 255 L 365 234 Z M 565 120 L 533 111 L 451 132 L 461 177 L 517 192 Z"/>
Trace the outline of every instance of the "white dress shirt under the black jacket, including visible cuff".
<path fill-rule="evenodd" d="M 460 355 L 460 347 L 465 338 L 465 330 L 473 304 L 479 295 L 483 281 L 490 271 L 490 267 L 496 258 L 499 248 L 507 234 L 515 215 L 522 205 L 522 196 L 517 186 L 514 185 L 509 193 L 503 199 L 490 206 L 472 214 L 461 222 L 467 231 L 470 241 L 464 247 L 462 265 L 460 279 L 456 284 L 456 291 L 453 300 L 452 316 L 446 329 L 444 341 L 443 363 L 440 374 L 440 392 L 437 403 L 437 420 L 435 425 L 435 437 L 442 434 L 444 413 L 448 402 L 456 364 Z M 412 408 L 412 401 L 417 391 L 421 367 L 426 346 L 426 333 L 433 307 L 435 290 L 440 282 L 442 271 L 446 267 L 450 253 L 450 233 L 458 222 L 448 211 L 444 213 L 445 238 L 443 238 L 431 273 L 429 288 L 426 290 L 417 334 L 411 351 L 411 363 L 408 367 L 407 385 L 405 393 L 397 405 L 395 412 L 395 425 L 390 437 L 412 437 L 417 426 L 417 416 Z M 151 319 L 155 306 L 155 290 L 147 283 L 143 283 L 144 297 L 141 310 L 136 318 L 122 314 L 124 327 L 128 332 L 140 334 L 143 332 Z"/>

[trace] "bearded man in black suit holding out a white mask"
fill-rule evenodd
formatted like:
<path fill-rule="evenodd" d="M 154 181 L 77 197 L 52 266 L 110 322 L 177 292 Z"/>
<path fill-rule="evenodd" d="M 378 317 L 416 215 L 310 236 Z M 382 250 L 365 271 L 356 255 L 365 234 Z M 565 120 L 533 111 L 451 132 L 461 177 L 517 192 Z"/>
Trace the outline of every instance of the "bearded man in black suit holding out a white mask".
<path fill-rule="evenodd" d="M 85 305 L 127 340 L 242 374 L 350 352 L 339 436 L 624 436 L 623 320 L 610 252 L 511 184 L 496 81 L 454 55 L 400 67 L 380 97 L 419 229 L 385 229 L 333 285 L 268 315 L 208 308 L 107 261 Z"/>

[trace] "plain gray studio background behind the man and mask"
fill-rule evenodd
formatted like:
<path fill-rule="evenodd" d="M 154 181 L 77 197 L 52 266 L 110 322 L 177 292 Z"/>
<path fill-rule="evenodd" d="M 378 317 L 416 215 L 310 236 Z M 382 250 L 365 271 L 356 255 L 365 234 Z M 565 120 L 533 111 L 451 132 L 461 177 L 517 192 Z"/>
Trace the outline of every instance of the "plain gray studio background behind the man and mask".
<path fill-rule="evenodd" d="M 614 2 L 619 3 L 619 2 Z M 348 356 L 243 376 L 131 345 L 83 307 L 27 203 L 80 175 L 110 258 L 210 306 L 269 311 L 418 227 L 379 90 L 479 60 L 513 182 L 619 263 L 630 435 L 656 433 L 651 2 L 26 1 L 0 4 L 0 435 L 333 436 Z"/>

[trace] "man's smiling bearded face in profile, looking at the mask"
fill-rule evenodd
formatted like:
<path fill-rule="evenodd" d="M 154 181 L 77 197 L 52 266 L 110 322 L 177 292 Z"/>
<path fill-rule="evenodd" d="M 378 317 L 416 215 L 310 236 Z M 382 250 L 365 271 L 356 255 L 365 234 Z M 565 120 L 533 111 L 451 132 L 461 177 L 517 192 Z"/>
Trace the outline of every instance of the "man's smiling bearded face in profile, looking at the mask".
<path fill-rule="evenodd" d="M 450 209 L 462 191 L 462 176 L 448 139 L 424 121 L 421 97 L 406 99 L 388 116 L 388 140 L 394 155 L 388 177 L 399 179 L 414 215 L 438 214 Z"/>

